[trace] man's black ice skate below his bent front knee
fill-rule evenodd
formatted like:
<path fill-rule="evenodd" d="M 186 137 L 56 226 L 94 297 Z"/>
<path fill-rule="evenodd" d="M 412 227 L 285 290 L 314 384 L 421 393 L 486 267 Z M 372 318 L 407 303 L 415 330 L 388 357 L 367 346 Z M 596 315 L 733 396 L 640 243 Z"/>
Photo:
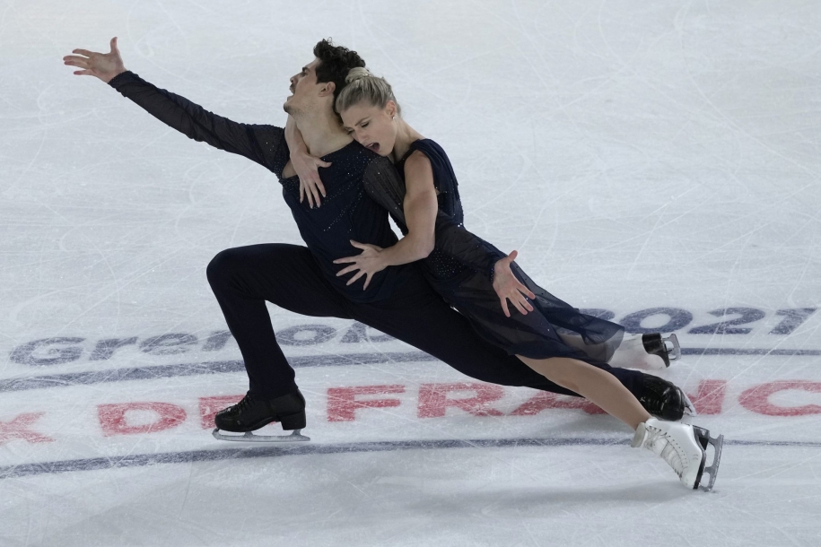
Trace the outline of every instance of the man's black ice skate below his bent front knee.
<path fill-rule="evenodd" d="M 278 421 L 283 430 L 293 430 L 291 435 L 254 435 L 253 431 Z M 214 438 L 249 442 L 293 442 L 310 438 L 301 435 L 305 427 L 305 397 L 299 390 L 274 399 L 260 399 L 248 393 L 238 404 L 217 412 L 214 417 Z M 244 433 L 244 435 L 230 435 Z"/>

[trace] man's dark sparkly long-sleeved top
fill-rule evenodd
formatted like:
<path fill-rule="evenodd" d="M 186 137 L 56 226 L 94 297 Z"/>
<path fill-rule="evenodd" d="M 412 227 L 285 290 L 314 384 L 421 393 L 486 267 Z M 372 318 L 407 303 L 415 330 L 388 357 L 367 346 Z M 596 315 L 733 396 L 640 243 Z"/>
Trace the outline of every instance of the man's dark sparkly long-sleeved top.
<path fill-rule="evenodd" d="M 283 186 L 285 203 L 291 209 L 293 220 L 316 258 L 319 269 L 347 300 L 383 300 L 415 267 L 402 265 L 386 268 L 373 276 L 364 291 L 364 276 L 350 286 L 345 283 L 353 273 L 336 276 L 345 265 L 336 265 L 333 261 L 360 252 L 351 246 L 351 239 L 379 247 L 390 247 L 397 242 L 396 234 L 390 230 L 387 211 L 373 201 L 362 187 L 363 178 L 398 177 L 387 158 L 355 142 L 324 156 L 322 160 L 332 162 L 330 167 L 322 169 L 320 175 L 328 195 L 322 200 L 321 207 L 311 209 L 308 200 L 300 203 L 299 178 L 283 178 L 290 151 L 282 127 L 240 124 L 217 116 L 190 100 L 145 82 L 132 72 L 119 74 L 109 85 L 189 138 L 240 154 L 271 170 Z M 287 268 L 287 265 L 283 266 Z"/>

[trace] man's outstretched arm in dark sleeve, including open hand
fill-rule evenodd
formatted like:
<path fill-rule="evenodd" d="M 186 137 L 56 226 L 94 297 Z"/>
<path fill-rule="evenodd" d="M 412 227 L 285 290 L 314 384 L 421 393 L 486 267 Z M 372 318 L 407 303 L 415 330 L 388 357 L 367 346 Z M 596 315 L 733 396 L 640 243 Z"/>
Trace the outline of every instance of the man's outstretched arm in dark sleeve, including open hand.
<path fill-rule="evenodd" d="M 82 69 L 75 71 L 74 74 L 91 75 L 107 82 L 153 117 L 188 138 L 245 156 L 273 170 L 277 175 L 282 173 L 287 162 L 287 154 L 283 162 L 278 161 L 281 154 L 276 153 L 283 142 L 282 128 L 234 122 L 226 117 L 217 116 L 184 97 L 145 82 L 126 69 L 117 48 L 116 38 L 111 39 L 109 53 L 97 53 L 86 49 L 74 49 L 73 53 L 74 55 L 63 57 L 63 60 L 66 65 Z"/>

